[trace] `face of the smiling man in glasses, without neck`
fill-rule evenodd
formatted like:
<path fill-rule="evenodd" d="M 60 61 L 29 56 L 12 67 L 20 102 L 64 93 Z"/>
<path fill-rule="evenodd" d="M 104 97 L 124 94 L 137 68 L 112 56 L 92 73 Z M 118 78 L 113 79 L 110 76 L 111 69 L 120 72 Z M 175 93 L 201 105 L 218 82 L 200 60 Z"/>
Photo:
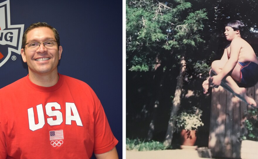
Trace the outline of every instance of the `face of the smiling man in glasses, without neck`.
<path fill-rule="evenodd" d="M 54 32 L 47 27 L 34 28 L 27 33 L 27 41 L 29 42 L 45 42 L 48 40 L 56 40 Z M 47 49 L 43 44 L 39 48 L 30 49 L 28 45 L 21 49 L 21 55 L 24 62 L 27 62 L 29 74 L 47 74 L 54 70 L 57 71 L 58 61 L 61 59 L 62 47 L 56 45 Z"/>

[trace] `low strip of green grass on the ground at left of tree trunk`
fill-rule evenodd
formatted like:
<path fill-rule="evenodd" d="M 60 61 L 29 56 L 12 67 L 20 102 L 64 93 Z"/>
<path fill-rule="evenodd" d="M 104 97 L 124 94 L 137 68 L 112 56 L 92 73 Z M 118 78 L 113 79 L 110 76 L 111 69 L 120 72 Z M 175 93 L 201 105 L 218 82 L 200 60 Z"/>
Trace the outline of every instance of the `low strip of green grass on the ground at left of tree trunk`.
<path fill-rule="evenodd" d="M 140 141 L 139 139 L 126 138 L 126 150 L 150 151 L 150 150 L 165 150 L 168 147 L 158 141 Z"/>

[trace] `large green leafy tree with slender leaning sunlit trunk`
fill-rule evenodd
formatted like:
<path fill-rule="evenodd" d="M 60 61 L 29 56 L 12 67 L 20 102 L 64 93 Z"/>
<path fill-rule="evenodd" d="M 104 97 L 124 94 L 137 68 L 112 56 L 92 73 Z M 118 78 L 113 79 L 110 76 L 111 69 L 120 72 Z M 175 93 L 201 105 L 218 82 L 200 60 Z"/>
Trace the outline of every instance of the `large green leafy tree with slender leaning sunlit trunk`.
<path fill-rule="evenodd" d="M 191 9 L 184 0 L 128 0 L 126 2 L 126 67 L 132 71 L 165 71 L 179 66 L 168 129 L 164 141 L 171 145 L 185 77 L 186 61 L 204 42 L 201 31 L 205 9 Z M 158 73 L 157 73 L 158 74 Z M 161 78 L 162 79 L 162 78 Z M 161 80 L 162 81 L 162 80 Z M 159 105 L 155 101 L 154 107 Z M 150 123 L 148 139 L 155 126 Z"/>

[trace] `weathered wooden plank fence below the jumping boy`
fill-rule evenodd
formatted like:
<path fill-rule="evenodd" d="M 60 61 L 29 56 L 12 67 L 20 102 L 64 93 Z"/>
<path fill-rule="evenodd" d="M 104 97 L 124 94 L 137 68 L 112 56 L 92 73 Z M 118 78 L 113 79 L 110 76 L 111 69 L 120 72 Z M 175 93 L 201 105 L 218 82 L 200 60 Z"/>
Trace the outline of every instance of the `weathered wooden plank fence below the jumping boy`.
<path fill-rule="evenodd" d="M 258 103 L 258 83 L 247 88 L 247 95 Z M 209 149 L 213 157 L 241 157 L 240 136 L 245 133 L 244 122 L 249 109 L 252 107 L 223 87 L 212 89 Z"/>

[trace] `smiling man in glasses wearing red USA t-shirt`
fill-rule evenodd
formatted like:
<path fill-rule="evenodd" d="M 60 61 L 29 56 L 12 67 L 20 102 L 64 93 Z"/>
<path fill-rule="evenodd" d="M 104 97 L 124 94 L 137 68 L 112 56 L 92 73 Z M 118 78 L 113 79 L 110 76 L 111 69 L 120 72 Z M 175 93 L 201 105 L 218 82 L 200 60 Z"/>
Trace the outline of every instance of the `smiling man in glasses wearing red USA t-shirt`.
<path fill-rule="evenodd" d="M 0 89 L 0 158 L 118 158 L 96 94 L 57 72 L 61 54 L 59 35 L 47 23 L 23 33 L 29 74 Z"/>

